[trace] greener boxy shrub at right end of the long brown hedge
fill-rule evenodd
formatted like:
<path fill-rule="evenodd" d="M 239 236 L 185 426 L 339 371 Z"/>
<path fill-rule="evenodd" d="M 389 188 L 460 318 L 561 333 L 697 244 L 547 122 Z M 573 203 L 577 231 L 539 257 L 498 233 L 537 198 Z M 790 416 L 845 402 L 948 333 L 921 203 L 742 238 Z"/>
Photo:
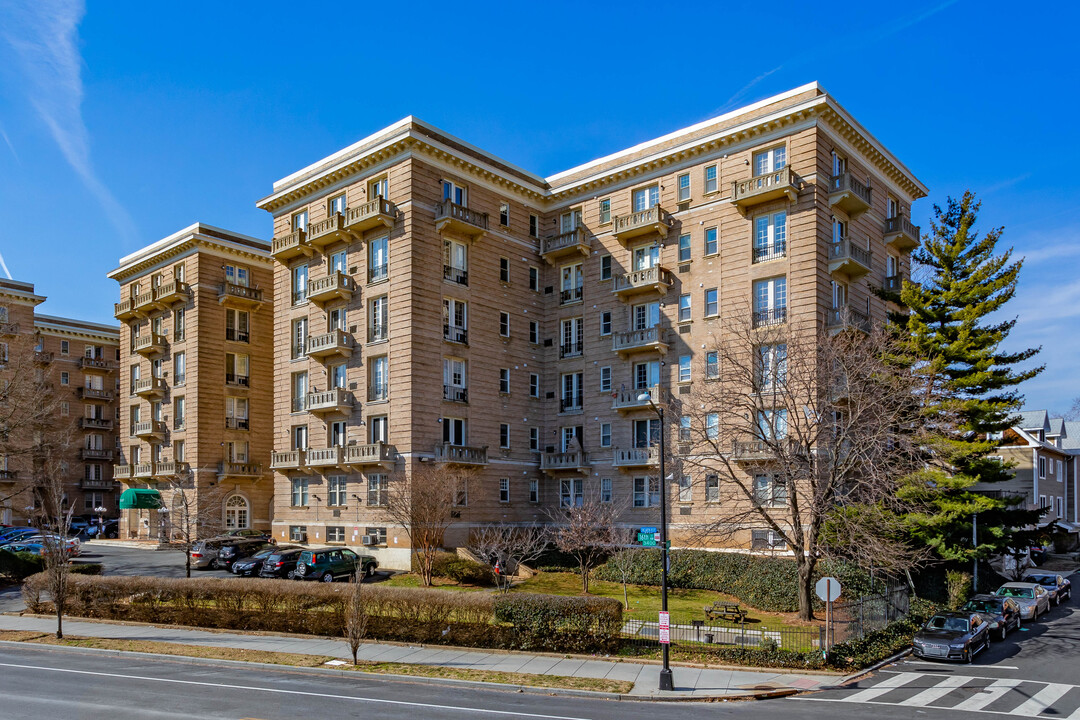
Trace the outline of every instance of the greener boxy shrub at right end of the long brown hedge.
<path fill-rule="evenodd" d="M 514 628 L 521 650 L 615 650 L 622 631 L 622 603 L 612 598 L 514 593 L 495 600 L 495 617 Z"/>

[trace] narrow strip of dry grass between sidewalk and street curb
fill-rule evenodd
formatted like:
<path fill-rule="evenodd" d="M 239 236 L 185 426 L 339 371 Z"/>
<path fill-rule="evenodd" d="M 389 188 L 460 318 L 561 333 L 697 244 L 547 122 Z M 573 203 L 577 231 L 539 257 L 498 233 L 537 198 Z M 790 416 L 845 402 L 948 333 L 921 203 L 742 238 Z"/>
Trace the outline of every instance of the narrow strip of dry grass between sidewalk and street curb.
<path fill-rule="evenodd" d="M 57 640 L 53 634 L 33 630 L 0 630 L 0 640 L 66 648 L 96 648 L 98 650 L 122 650 L 159 655 L 203 657 L 206 660 L 237 660 L 288 667 L 322 667 L 329 661 L 339 660 L 329 655 L 306 655 L 301 653 L 243 650 L 240 648 L 203 647 L 178 642 L 158 642 L 154 640 L 122 640 L 79 636 L 67 636 L 63 640 Z M 423 678 L 469 680 L 472 682 L 498 682 L 528 688 L 590 690 L 605 693 L 627 693 L 634 687 L 633 682 L 625 680 L 571 678 L 558 675 L 530 675 L 528 673 L 500 673 L 497 670 L 473 670 L 470 668 L 443 667 L 440 665 L 409 665 L 407 663 L 380 663 L 377 661 L 363 661 L 360 665 L 338 665 L 336 669 L 359 670 L 376 675 L 407 675 Z"/>

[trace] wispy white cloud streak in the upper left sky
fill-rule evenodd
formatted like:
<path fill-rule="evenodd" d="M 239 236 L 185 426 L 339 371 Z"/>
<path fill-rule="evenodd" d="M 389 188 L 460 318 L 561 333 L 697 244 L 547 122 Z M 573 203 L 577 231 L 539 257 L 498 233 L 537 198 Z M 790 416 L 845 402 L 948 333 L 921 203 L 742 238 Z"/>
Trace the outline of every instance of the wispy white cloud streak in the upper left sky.
<path fill-rule="evenodd" d="M 78 47 L 79 23 L 85 10 L 81 0 L 9 1 L 0 9 L 0 28 L 3 41 L 14 50 L 30 107 L 116 230 L 126 240 L 135 240 L 131 215 L 102 182 L 91 162 Z M 10 141 L 8 145 L 11 147 Z"/>

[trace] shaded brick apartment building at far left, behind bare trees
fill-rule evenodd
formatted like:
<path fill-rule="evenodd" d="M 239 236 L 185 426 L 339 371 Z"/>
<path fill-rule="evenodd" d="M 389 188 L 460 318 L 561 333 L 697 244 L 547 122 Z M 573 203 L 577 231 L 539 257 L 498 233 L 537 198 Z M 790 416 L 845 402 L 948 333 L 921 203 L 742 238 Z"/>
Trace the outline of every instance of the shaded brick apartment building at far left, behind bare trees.
<path fill-rule="evenodd" d="M 44 301 L 32 283 L 0 280 L 0 364 L 18 363 L 12 353 L 32 352 L 53 393 L 49 407 L 57 413 L 56 426 L 71 432 L 58 462 L 65 506 L 76 515 L 111 517 L 119 499 L 111 467 L 119 328 L 38 314 Z M 11 370 L 0 367 L 0 377 Z M 28 521 L 27 508 L 37 504 L 30 484 L 28 458 L 0 456 L 0 522 Z"/>

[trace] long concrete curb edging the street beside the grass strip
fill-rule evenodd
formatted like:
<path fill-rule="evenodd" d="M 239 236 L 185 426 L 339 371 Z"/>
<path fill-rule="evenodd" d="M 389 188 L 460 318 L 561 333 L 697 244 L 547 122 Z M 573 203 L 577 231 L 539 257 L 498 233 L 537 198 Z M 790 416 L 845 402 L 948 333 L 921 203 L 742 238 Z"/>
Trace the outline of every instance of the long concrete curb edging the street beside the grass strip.
<path fill-rule="evenodd" d="M 572 688 L 538 688 L 535 685 L 515 685 L 501 682 L 481 682 L 478 680 L 457 680 L 454 678 L 429 678 L 416 675 L 394 675 L 391 673 L 365 673 L 364 670 L 339 670 L 329 667 L 296 667 L 293 665 L 278 665 L 274 663 L 257 663 L 243 660 L 225 660 L 213 657 L 190 657 L 187 655 L 165 655 L 151 652 L 135 652 L 132 650 L 107 650 L 103 648 L 79 648 L 69 646 L 48 646 L 33 642 L 17 642 L 14 640 L 0 640 L 0 648 L 22 648 L 24 650 L 51 651 L 60 650 L 66 652 L 81 653 L 87 655 L 105 655 L 111 657 L 151 657 L 158 661 L 178 663 L 181 665 L 205 665 L 211 667 L 242 667 L 242 668 L 266 668 L 285 673 L 309 673 L 314 675 L 328 675 L 332 677 L 355 677 L 376 680 L 386 679 L 399 682 L 414 682 L 419 684 L 441 684 L 456 688 L 471 688 L 475 690 L 488 690 L 495 692 L 509 692 L 527 695 L 558 695 L 566 697 L 589 697 L 593 699 L 616 699 L 629 702 L 649 703 L 723 703 L 734 701 L 768 699 L 772 697 L 786 697 L 800 692 L 794 688 L 768 690 L 760 693 L 741 693 L 729 695 L 711 695 L 699 697 L 685 696 L 663 696 L 663 695 L 632 695 L 627 693 L 606 693 L 595 690 L 575 690 Z"/>

